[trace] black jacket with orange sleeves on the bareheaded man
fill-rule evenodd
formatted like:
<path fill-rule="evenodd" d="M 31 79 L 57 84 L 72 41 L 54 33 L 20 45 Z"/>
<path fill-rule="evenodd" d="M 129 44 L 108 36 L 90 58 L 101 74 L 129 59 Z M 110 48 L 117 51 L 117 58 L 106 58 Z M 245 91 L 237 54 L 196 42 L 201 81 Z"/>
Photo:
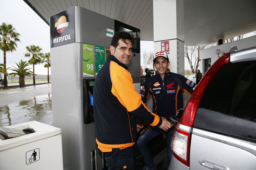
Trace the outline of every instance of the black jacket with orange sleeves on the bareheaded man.
<path fill-rule="evenodd" d="M 108 55 L 95 79 L 93 110 L 96 142 L 102 152 L 132 146 L 137 131 L 136 118 L 152 126 L 162 124 L 162 119 L 141 101 L 127 66 L 113 55 Z"/>

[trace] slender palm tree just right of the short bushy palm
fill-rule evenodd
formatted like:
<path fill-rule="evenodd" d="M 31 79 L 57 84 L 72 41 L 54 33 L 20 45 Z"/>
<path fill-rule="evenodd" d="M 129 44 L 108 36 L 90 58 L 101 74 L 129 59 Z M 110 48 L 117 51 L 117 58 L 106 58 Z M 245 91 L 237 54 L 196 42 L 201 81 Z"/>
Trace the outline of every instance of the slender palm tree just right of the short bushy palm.
<path fill-rule="evenodd" d="M 30 57 L 30 54 L 32 55 L 31 59 L 28 60 L 28 63 L 33 64 L 33 72 L 35 73 L 35 65 L 42 63 L 41 57 L 44 55 L 40 52 L 42 48 L 35 45 L 30 45 L 30 47 L 27 46 L 26 48 L 28 53 L 25 54 L 25 57 Z M 36 85 L 35 74 L 33 75 L 33 85 Z"/>

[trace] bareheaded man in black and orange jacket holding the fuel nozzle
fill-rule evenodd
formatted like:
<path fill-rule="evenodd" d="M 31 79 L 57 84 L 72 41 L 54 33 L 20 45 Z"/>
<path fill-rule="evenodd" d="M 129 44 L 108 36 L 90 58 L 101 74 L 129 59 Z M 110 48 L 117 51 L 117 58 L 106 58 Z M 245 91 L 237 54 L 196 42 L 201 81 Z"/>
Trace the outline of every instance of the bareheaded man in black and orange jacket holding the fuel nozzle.
<path fill-rule="evenodd" d="M 126 66 L 132 57 L 132 45 L 129 33 L 114 34 L 111 55 L 93 86 L 96 142 L 105 152 L 108 170 L 139 170 L 143 164 L 142 153 L 135 144 L 136 118 L 166 131 L 172 127 L 166 119 L 151 113 L 132 85 Z"/>

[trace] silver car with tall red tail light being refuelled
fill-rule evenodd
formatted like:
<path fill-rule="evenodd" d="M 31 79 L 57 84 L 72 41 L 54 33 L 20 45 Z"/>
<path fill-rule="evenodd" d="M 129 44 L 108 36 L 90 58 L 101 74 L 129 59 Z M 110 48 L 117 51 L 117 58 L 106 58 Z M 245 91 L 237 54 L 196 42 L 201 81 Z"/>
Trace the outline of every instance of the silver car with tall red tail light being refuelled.
<path fill-rule="evenodd" d="M 256 47 L 220 57 L 188 100 L 169 170 L 256 169 Z"/>

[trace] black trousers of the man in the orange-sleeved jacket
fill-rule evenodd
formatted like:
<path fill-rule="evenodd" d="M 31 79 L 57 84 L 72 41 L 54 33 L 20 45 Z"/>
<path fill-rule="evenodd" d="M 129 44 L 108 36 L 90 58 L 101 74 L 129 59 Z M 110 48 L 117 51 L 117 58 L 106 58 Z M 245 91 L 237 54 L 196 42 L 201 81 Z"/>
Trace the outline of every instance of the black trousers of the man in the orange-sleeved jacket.
<path fill-rule="evenodd" d="M 125 149 L 114 148 L 111 152 L 105 152 L 105 160 L 108 170 L 140 170 L 144 163 L 137 143 Z"/>

